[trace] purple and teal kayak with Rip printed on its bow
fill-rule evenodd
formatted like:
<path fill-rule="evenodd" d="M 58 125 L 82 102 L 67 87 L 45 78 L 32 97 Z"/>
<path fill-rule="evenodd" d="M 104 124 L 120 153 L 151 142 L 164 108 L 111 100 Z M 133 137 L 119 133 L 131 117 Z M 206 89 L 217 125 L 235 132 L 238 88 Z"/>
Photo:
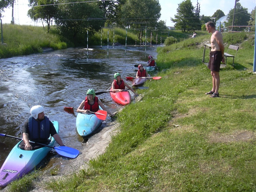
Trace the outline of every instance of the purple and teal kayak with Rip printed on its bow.
<path fill-rule="evenodd" d="M 58 121 L 52 121 L 52 123 L 58 133 Z M 53 146 L 55 143 L 54 138 L 50 137 L 49 139 L 51 139 L 49 146 Z M 0 188 L 33 170 L 52 149 L 50 147 L 43 147 L 36 150 L 26 151 L 20 149 L 19 145 L 21 142 L 22 141 L 18 142 L 12 148 L 12 151 L 7 156 L 0 169 Z"/>

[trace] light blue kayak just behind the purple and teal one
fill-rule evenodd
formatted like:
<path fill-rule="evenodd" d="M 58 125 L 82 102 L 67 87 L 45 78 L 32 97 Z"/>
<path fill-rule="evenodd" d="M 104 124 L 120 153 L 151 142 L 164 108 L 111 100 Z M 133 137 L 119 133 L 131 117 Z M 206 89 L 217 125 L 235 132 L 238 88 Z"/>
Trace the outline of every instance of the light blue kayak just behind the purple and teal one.
<path fill-rule="evenodd" d="M 99 106 L 100 110 L 102 108 Z M 101 125 L 100 120 L 95 114 L 77 113 L 76 116 L 76 130 L 82 137 L 87 137 L 95 132 Z"/>

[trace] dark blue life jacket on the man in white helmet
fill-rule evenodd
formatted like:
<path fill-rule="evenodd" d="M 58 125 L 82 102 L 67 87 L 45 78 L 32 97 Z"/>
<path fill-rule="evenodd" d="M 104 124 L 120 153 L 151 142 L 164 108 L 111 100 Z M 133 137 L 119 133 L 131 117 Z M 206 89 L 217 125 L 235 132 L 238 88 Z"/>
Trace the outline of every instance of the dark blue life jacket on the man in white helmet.
<path fill-rule="evenodd" d="M 50 121 L 44 116 L 42 121 L 36 121 L 34 117 L 28 119 L 28 137 L 29 140 L 48 140 L 50 137 Z"/>

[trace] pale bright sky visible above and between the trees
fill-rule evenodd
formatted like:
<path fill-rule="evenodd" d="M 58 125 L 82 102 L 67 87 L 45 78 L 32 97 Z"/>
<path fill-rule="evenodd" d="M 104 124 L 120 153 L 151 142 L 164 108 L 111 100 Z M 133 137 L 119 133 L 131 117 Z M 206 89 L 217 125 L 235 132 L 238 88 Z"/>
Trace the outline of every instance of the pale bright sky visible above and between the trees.
<path fill-rule="evenodd" d="M 14 23 L 20 25 L 34 25 L 42 26 L 42 22 L 34 22 L 28 16 L 28 0 L 15 0 L 14 5 Z M 174 15 L 177 13 L 178 4 L 183 0 L 159 0 L 161 5 L 161 18 L 166 22 L 166 26 L 173 26 L 174 23 L 171 21 L 171 17 L 174 18 Z M 237 0 L 236 0 L 237 1 Z M 196 6 L 197 0 L 191 0 L 193 6 Z M 218 9 L 224 12 L 225 15 L 234 8 L 235 0 L 198 0 L 200 4 L 200 15 L 212 16 L 214 12 Z M 254 7 L 256 6 L 256 0 L 239 0 L 239 3 L 248 9 L 248 12 L 251 13 Z M 11 23 L 12 20 L 12 8 L 5 9 L 3 13 L 2 22 Z M 46 25 L 44 23 L 44 25 Z"/>

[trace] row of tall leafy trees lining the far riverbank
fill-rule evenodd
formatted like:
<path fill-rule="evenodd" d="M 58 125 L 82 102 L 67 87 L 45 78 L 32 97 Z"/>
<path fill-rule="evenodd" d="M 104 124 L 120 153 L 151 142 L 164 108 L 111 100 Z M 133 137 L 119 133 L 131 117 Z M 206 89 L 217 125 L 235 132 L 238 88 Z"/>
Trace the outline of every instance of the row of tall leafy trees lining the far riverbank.
<path fill-rule="evenodd" d="M 153 28 L 161 16 L 158 0 L 29 0 L 29 5 L 32 20 L 46 22 L 49 31 L 53 19 L 60 32 L 72 38 L 86 30 L 93 34 L 104 26 Z"/>

